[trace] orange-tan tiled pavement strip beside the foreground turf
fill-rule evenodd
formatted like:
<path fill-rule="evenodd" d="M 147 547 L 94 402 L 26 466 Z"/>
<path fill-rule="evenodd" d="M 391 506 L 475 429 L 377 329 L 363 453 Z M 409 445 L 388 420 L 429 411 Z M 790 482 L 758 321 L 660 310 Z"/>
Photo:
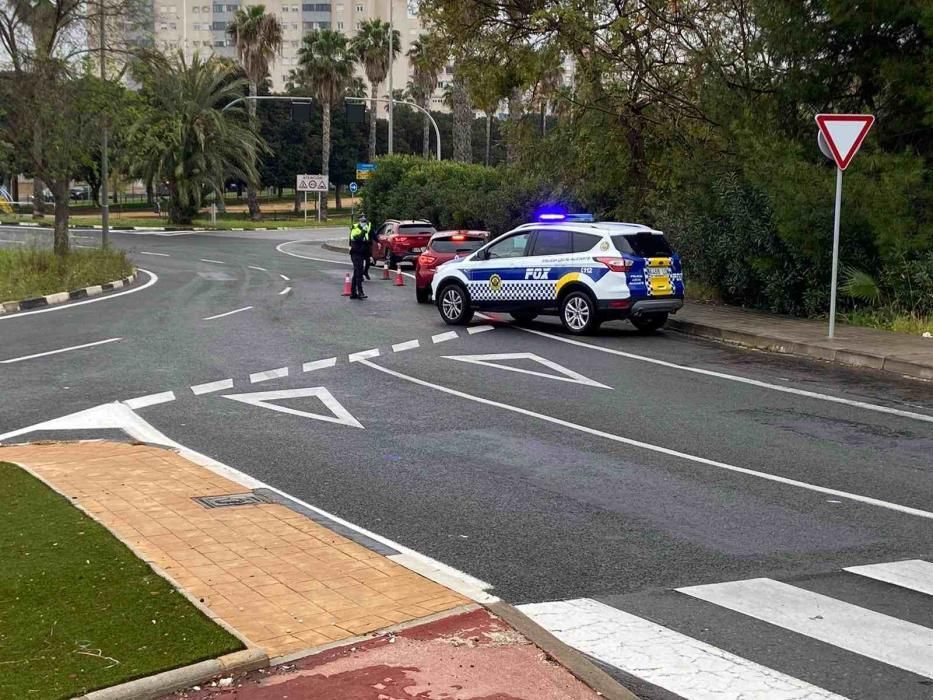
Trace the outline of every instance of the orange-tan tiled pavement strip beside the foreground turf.
<path fill-rule="evenodd" d="M 0 447 L 271 656 L 469 603 L 278 504 L 208 509 L 243 486 L 175 452 L 112 442 Z"/>

